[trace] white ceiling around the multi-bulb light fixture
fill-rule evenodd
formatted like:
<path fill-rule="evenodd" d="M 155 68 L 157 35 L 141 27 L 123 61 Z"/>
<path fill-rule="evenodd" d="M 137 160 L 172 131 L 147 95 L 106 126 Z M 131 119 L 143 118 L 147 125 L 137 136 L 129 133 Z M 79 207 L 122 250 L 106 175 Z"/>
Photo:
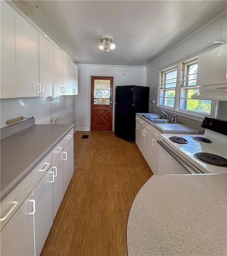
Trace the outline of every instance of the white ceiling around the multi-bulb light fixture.
<path fill-rule="evenodd" d="M 227 8 L 227 1 L 14 1 L 76 63 L 147 65 Z M 38 7 L 36 7 L 38 6 Z M 98 49 L 99 37 L 116 49 Z"/>

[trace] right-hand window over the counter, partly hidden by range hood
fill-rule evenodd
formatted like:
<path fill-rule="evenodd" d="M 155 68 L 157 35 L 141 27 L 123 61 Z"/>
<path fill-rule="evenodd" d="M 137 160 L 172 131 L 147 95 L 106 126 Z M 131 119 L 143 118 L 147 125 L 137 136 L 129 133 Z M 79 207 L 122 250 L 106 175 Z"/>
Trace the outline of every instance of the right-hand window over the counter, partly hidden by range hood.
<path fill-rule="evenodd" d="M 191 99 L 191 96 L 199 91 L 199 87 L 196 86 L 198 60 L 183 63 L 182 66 L 183 79 L 180 87 L 179 110 L 210 114 L 211 101 Z"/>

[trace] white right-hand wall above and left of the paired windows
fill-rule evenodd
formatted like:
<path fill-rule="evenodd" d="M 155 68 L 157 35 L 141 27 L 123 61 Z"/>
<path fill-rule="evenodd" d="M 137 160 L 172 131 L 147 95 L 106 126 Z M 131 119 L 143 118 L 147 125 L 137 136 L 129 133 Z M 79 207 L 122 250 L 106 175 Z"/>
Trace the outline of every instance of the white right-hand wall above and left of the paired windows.
<path fill-rule="evenodd" d="M 227 42 L 227 16 L 223 14 L 221 17 L 218 17 L 212 22 L 209 22 L 209 25 L 206 25 L 200 31 L 194 32 L 190 37 L 186 38 L 184 42 L 167 52 L 161 58 L 157 59 L 153 63 L 150 63 L 146 70 L 146 86 L 150 87 L 149 102 L 151 102 L 151 100 L 155 100 L 154 105 L 156 106 L 159 69 L 163 69 L 170 64 L 174 65 L 175 62 L 178 62 L 179 60 L 184 61 L 189 59 L 190 57 L 187 57 L 186 59 L 185 57 L 190 54 L 192 54 L 192 58 L 202 52 L 210 50 L 211 48 L 206 48 L 199 53 L 193 54 L 194 52 L 204 48 L 212 42 L 221 40 L 224 40 L 225 43 Z M 225 105 L 225 103 L 223 104 Z M 222 109 L 223 107 L 218 108 L 218 111 L 222 111 Z M 151 104 L 149 104 L 149 110 L 151 111 Z M 153 112 L 157 112 L 157 109 L 154 108 Z"/>

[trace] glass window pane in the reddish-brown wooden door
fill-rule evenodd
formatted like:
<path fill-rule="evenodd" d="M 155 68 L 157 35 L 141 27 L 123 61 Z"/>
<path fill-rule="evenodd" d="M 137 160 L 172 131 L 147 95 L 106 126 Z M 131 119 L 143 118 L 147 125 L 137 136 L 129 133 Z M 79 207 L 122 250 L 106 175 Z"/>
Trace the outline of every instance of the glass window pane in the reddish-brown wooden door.
<path fill-rule="evenodd" d="M 110 80 L 94 80 L 94 105 L 110 105 Z"/>

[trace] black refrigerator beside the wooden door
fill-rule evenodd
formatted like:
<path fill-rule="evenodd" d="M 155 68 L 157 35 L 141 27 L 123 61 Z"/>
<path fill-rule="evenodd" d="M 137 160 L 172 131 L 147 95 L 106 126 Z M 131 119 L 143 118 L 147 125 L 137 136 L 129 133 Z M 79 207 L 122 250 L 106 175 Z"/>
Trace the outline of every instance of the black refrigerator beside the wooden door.
<path fill-rule="evenodd" d="M 149 87 L 127 85 L 116 86 L 115 94 L 115 135 L 135 141 L 135 113 L 147 113 Z"/>

